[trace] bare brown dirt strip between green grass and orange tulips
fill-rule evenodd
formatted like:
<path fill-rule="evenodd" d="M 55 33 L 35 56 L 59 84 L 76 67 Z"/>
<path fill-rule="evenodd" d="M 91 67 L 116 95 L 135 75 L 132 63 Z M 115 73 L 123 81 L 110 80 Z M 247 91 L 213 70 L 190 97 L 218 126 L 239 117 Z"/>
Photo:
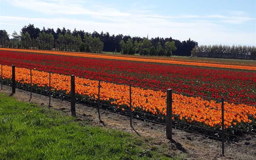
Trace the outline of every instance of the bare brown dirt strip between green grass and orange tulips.
<path fill-rule="evenodd" d="M 3 85 L 0 91 L 6 94 L 11 93 L 11 87 Z M 16 99 L 29 102 L 30 92 L 16 89 L 13 95 Z M 49 97 L 41 94 L 32 93 L 32 103 L 41 106 L 48 106 Z M 70 102 L 61 99 L 51 99 L 51 106 L 56 110 L 60 110 L 63 114 L 71 115 Z M 165 125 L 144 122 L 139 119 L 132 119 L 132 127 L 130 127 L 130 117 L 120 115 L 106 110 L 100 110 L 102 123 L 99 121 L 97 109 L 87 107 L 85 105 L 76 104 L 76 119 L 81 124 L 90 124 L 102 126 L 103 128 L 116 128 L 142 137 L 150 145 L 155 147 L 166 146 L 167 152 L 163 154 L 174 156 L 182 154 L 184 159 L 238 159 L 251 160 L 256 159 L 256 137 L 244 135 L 251 140 L 237 138 L 236 142 L 225 142 L 225 156 L 221 155 L 221 141 L 209 139 L 206 136 L 189 133 L 183 130 L 173 128 L 173 141 L 169 141 L 165 135 Z M 150 141 L 149 141 L 150 140 Z"/>

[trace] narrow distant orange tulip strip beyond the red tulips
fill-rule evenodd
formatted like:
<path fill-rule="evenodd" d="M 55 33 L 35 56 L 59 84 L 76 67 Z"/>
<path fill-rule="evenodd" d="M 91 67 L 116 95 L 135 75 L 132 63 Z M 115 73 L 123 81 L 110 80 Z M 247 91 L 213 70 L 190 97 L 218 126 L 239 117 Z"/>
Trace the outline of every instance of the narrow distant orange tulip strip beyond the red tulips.
<path fill-rule="evenodd" d="M 14 48 L 0 48 L 0 50 L 10 50 L 19 52 L 32 52 L 42 54 L 54 54 L 54 55 L 66 55 L 76 57 L 88 57 L 88 58 L 104 58 L 114 60 L 125 60 L 125 61 L 140 61 L 140 62 L 151 62 L 151 63 L 167 63 L 167 64 L 179 64 L 189 66 L 205 66 L 215 68 L 233 68 L 233 69 L 244 69 L 256 71 L 255 66 L 241 66 L 241 65 L 230 65 L 230 64 L 218 64 L 218 63 L 202 63 L 202 62 L 188 62 L 188 61 L 175 61 L 175 60 L 164 60 L 164 59 L 150 59 L 150 58 L 133 58 L 127 56 L 112 56 L 112 55 L 100 55 L 90 53 L 68 53 L 68 52 L 57 52 L 57 51 L 46 51 L 46 50 L 25 50 L 25 49 L 14 49 Z"/>

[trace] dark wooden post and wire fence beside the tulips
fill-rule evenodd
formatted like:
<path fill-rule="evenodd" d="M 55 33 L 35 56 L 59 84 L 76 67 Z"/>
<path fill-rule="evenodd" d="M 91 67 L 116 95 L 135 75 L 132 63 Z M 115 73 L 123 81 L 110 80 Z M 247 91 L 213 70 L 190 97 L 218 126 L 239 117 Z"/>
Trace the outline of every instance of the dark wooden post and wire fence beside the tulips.
<path fill-rule="evenodd" d="M 13 95 L 13 94 L 15 94 L 15 87 L 16 87 L 15 66 L 14 65 L 12 65 L 12 80 L 11 81 L 12 81 L 12 83 L 11 83 L 12 84 L 12 94 L 11 95 Z M 221 121 L 222 122 L 221 122 L 221 132 L 220 132 L 220 131 L 211 130 L 211 129 L 208 129 L 208 128 L 203 128 L 203 127 L 200 127 L 200 126 L 196 126 L 196 125 L 192 125 L 192 124 L 183 123 L 183 122 L 179 122 L 179 121 L 173 120 L 172 119 L 172 116 L 173 116 L 172 115 L 172 89 L 167 89 L 167 91 L 166 91 L 167 92 L 167 97 L 166 97 L 166 102 L 167 102 L 166 103 L 166 105 L 167 105 L 167 108 L 166 108 L 167 109 L 166 110 L 166 118 L 155 116 L 155 115 L 151 115 L 151 116 L 154 116 L 154 117 L 157 117 L 157 118 L 161 118 L 162 120 L 165 119 L 166 123 L 164 124 L 164 123 L 160 123 L 160 122 L 157 122 L 157 121 L 154 121 L 154 120 L 149 120 L 149 119 L 145 119 L 145 118 L 133 115 L 133 113 L 141 113 L 141 114 L 144 114 L 144 115 L 150 115 L 150 114 L 143 113 L 143 112 L 137 112 L 137 111 L 133 111 L 132 110 L 132 107 L 134 107 L 134 106 L 132 106 L 132 89 L 131 89 L 132 86 L 131 85 L 129 85 L 129 110 L 125 109 L 125 108 L 119 108 L 119 107 L 115 107 L 115 106 L 111 106 L 111 105 L 100 103 L 100 88 L 101 88 L 100 82 L 101 81 L 98 81 L 98 82 L 99 82 L 99 84 L 98 84 L 98 87 L 97 87 L 98 88 L 97 102 L 92 102 L 92 101 L 89 101 L 87 99 L 76 98 L 76 93 L 75 93 L 75 76 L 71 75 L 71 92 L 70 92 L 71 99 L 70 99 L 70 102 L 71 102 L 71 114 L 72 114 L 72 116 L 76 116 L 75 103 L 82 104 L 82 105 L 87 105 L 86 103 L 80 103 L 80 102 L 77 102 L 76 100 L 97 103 L 97 110 L 98 110 L 98 116 L 99 116 L 100 122 L 101 122 L 100 110 L 108 110 L 108 109 L 104 109 L 103 106 L 117 108 L 117 109 L 120 109 L 120 110 L 125 111 L 125 112 L 124 113 L 116 112 L 115 110 L 110 110 L 110 111 L 111 112 L 116 112 L 116 113 L 119 113 L 119 114 L 122 114 L 122 115 L 130 116 L 130 126 L 131 127 L 132 127 L 132 117 L 135 117 L 135 118 L 138 118 L 138 119 L 142 119 L 144 121 L 150 121 L 150 122 L 153 122 L 153 123 L 159 123 L 159 124 L 162 124 L 162 125 L 166 125 L 166 137 L 169 140 L 172 140 L 172 128 L 179 128 L 181 130 L 186 130 L 188 132 L 193 132 L 193 133 L 196 133 L 196 134 L 201 134 L 201 135 L 212 137 L 212 138 L 216 138 L 216 139 L 221 139 L 222 140 L 222 155 L 223 156 L 225 155 L 225 152 L 224 152 L 225 141 L 228 141 L 228 140 L 225 139 L 225 134 L 226 135 L 231 135 L 231 134 L 225 133 L 225 125 L 224 125 L 224 98 L 221 99 L 221 112 L 222 112 Z M 36 87 L 32 87 L 32 84 L 33 84 L 32 83 L 32 70 L 30 69 L 30 100 L 32 98 L 32 88 L 34 88 L 35 90 L 43 90 L 43 91 L 47 92 L 47 89 L 46 90 L 45 89 L 38 89 Z M 1 89 L 2 89 L 2 85 L 3 85 L 3 65 L 1 64 Z M 26 85 L 23 84 L 23 86 L 26 86 Z M 20 86 L 17 86 L 17 87 L 21 88 L 21 89 L 24 89 L 24 87 L 23 88 L 20 87 Z M 48 96 L 49 96 L 49 107 L 50 107 L 50 104 L 51 104 L 51 97 L 56 97 L 56 96 L 51 94 L 51 89 L 52 89 L 52 87 L 51 87 L 51 72 L 49 72 L 49 89 L 48 89 L 48 92 L 49 92 L 49 94 L 48 94 Z M 33 92 L 47 95 L 47 94 L 42 93 L 42 92 L 37 92 L 37 91 L 33 91 Z M 67 96 L 67 97 L 69 97 L 69 95 L 66 95 L 66 94 L 60 94 L 60 93 L 57 93 L 57 92 L 53 92 L 53 93 L 58 94 L 59 96 L 63 96 L 63 97 Z M 178 92 L 176 92 L 176 93 L 178 93 Z M 204 96 L 201 96 L 201 97 L 204 97 Z M 61 97 L 56 97 L 56 98 L 62 99 Z M 209 98 L 209 97 L 207 97 L 207 98 Z M 163 98 L 161 98 L 161 99 L 163 99 Z M 63 98 L 63 100 L 68 100 L 68 99 Z M 96 106 L 92 106 L 92 105 L 87 105 L 87 106 L 95 107 L 96 108 Z M 143 107 L 137 107 L 137 108 L 141 109 Z M 152 110 L 152 109 L 148 109 L 148 108 L 145 108 L 145 109 Z M 156 111 L 156 112 L 160 112 L 160 111 Z M 129 114 L 127 114 L 127 113 L 129 113 Z M 195 127 L 198 127 L 198 128 L 202 128 L 202 129 L 211 130 L 211 131 L 215 131 L 215 132 L 221 133 L 221 138 L 217 138 L 217 137 L 213 137 L 213 136 L 210 136 L 210 135 L 205 135 L 205 134 L 202 134 L 202 133 L 199 133 L 199 132 L 195 132 L 195 131 L 192 131 L 192 130 L 188 130 L 188 129 L 185 129 L 185 128 L 177 127 L 177 126 L 173 125 L 173 123 L 172 123 L 173 121 L 175 121 L 177 123 L 183 123 L 183 124 L 186 124 L 186 125 L 195 126 Z M 232 129 L 236 129 L 236 128 L 232 128 Z M 236 130 L 239 130 L 239 129 L 236 129 Z M 241 130 L 241 131 L 244 131 L 244 130 Z M 248 131 L 244 131 L 244 132 L 253 133 L 253 132 L 248 132 Z M 236 135 L 234 135 L 234 136 L 236 136 Z M 240 136 L 236 136 L 236 137 L 245 138 L 245 137 L 240 137 Z M 249 138 L 246 138 L 246 139 L 249 139 Z M 228 142 L 231 142 L 231 141 L 228 141 Z"/>

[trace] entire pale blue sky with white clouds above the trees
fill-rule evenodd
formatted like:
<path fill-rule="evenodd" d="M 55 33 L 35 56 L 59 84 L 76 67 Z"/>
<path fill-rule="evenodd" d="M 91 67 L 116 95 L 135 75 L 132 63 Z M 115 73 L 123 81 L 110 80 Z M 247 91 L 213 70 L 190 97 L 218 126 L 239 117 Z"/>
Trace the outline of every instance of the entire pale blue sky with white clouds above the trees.
<path fill-rule="evenodd" d="M 256 0 L 0 0 L 0 29 L 28 24 L 200 44 L 256 45 Z"/>

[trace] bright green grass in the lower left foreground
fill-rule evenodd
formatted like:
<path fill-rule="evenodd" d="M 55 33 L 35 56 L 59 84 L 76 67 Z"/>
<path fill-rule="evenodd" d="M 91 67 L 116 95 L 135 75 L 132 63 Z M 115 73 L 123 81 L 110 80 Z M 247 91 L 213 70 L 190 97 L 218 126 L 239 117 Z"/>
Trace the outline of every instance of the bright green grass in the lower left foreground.
<path fill-rule="evenodd" d="M 172 159 L 166 150 L 0 93 L 0 159 Z"/>

